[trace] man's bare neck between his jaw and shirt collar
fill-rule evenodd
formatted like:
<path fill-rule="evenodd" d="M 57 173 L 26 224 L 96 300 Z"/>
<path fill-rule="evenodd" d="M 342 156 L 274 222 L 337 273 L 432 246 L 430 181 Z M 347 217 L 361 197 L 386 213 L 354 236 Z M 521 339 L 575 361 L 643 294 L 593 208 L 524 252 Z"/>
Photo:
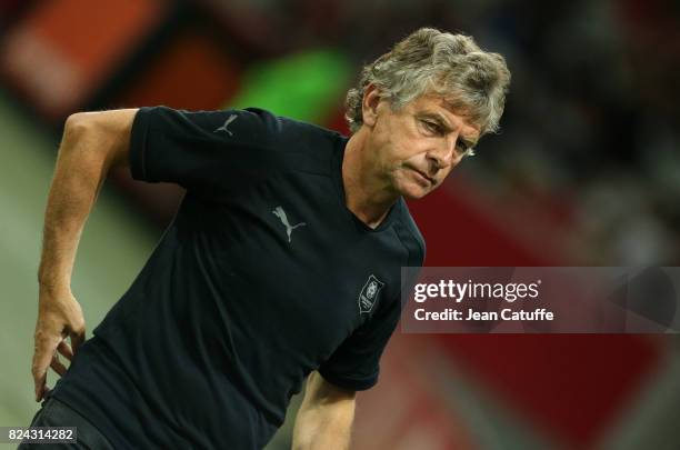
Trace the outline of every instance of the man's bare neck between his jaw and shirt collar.
<path fill-rule="evenodd" d="M 342 159 L 344 204 L 369 228 L 378 228 L 399 196 L 389 190 L 374 164 L 369 162 L 366 136 L 354 133 Z"/>

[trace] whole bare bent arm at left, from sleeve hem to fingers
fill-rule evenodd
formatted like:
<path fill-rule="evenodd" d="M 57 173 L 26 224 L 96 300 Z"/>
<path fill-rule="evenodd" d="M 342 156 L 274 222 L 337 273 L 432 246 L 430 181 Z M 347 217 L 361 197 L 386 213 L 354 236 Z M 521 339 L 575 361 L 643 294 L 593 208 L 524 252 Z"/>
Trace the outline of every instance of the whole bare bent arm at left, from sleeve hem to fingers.
<path fill-rule="evenodd" d="M 70 116 L 57 157 L 46 208 L 38 281 L 38 321 L 32 362 L 36 401 L 46 394 L 47 370 L 66 367 L 57 351 L 71 359 L 84 341 L 84 319 L 71 293 L 71 272 L 84 222 L 113 166 L 128 164 L 136 109 Z M 71 347 L 66 338 L 71 338 Z"/>

